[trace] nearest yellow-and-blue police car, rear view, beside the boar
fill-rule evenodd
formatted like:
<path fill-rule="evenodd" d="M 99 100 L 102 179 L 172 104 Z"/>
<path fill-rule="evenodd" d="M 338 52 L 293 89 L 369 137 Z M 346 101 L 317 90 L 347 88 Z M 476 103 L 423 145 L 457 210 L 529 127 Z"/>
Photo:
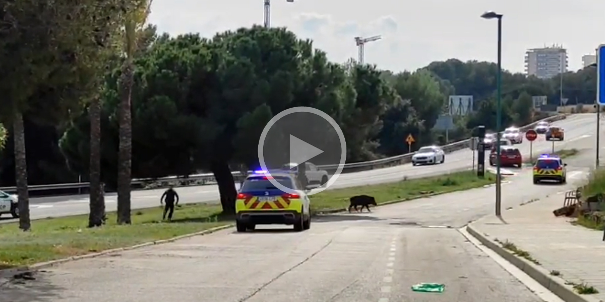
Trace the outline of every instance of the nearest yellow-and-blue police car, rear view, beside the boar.
<path fill-rule="evenodd" d="M 270 181 L 299 191 L 285 193 Z M 254 230 L 257 225 L 293 225 L 295 231 L 309 230 L 311 210 L 296 175 L 287 172 L 255 171 L 246 176 L 235 201 L 235 223 L 238 232 Z"/>

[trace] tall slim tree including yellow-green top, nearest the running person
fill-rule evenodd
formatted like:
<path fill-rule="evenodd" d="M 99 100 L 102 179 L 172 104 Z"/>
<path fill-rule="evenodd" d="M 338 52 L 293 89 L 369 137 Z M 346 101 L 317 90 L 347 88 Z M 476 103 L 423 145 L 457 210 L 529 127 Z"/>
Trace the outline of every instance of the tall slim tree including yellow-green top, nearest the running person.
<path fill-rule="evenodd" d="M 123 55 L 122 76 L 120 77 L 120 106 L 119 120 L 119 149 L 117 172 L 117 223 L 130 224 L 130 184 L 132 165 L 132 116 L 131 94 L 134 82 L 134 54 L 137 50 L 139 33 L 142 32 L 149 13 L 151 13 L 152 0 L 136 0 L 131 7 L 125 7 L 125 20 L 123 27 Z M 126 5 L 125 5 L 126 6 Z"/>

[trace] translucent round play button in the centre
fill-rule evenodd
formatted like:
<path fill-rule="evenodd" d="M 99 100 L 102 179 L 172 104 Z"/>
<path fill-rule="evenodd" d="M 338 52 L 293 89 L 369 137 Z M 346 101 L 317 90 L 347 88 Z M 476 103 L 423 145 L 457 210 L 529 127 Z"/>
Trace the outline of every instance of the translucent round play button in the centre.
<path fill-rule="evenodd" d="M 290 108 L 275 115 L 258 141 L 258 160 L 269 175 L 298 173 L 304 164 L 309 186 L 316 187 L 307 195 L 330 187 L 342 172 L 346 158 L 347 144 L 336 121 L 310 107 Z M 269 181 L 286 193 L 301 194 L 301 188 L 272 178 Z"/>

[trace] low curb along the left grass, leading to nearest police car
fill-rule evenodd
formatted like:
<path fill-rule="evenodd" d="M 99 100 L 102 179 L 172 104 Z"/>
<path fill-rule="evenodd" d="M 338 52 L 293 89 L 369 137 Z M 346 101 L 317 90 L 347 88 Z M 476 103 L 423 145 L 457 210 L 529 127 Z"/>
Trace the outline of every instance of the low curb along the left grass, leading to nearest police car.
<path fill-rule="evenodd" d="M 209 228 L 208 230 L 199 231 L 196 233 L 185 234 L 185 235 L 181 235 L 181 236 L 177 236 L 177 237 L 172 237 L 169 239 L 144 242 L 144 243 L 140 243 L 138 245 L 126 246 L 125 248 L 107 249 L 107 250 L 101 251 L 101 252 L 93 252 L 91 254 L 83 254 L 83 255 L 79 255 L 79 256 L 67 257 L 67 258 L 51 260 L 51 261 L 47 261 L 47 262 L 40 262 L 40 263 L 35 263 L 30 266 L 22 266 L 19 268 L 0 269 L 0 277 L 3 277 L 2 275 L 4 275 L 4 274 L 13 275 L 13 274 L 19 274 L 20 272 L 35 271 L 35 270 L 42 269 L 42 268 L 50 268 L 51 266 L 59 265 L 61 263 L 70 262 L 70 261 L 74 261 L 74 260 L 91 259 L 91 258 L 103 256 L 103 255 L 115 254 L 117 252 L 129 251 L 131 249 L 139 249 L 139 248 L 145 248 L 146 246 L 160 245 L 163 243 L 174 242 L 176 240 L 185 239 L 185 238 L 189 238 L 189 237 L 208 235 L 208 234 L 215 233 L 217 231 L 226 230 L 227 228 L 232 228 L 233 226 L 234 226 L 234 223 L 230 223 L 228 225 L 217 226 L 215 228 Z"/>

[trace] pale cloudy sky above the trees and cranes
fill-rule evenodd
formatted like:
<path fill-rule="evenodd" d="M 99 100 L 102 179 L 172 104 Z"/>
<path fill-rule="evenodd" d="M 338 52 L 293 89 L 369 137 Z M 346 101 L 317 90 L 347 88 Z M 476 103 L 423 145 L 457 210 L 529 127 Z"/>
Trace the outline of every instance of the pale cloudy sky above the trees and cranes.
<path fill-rule="evenodd" d="M 200 33 L 261 25 L 261 0 L 154 0 L 149 22 L 169 34 Z M 365 63 L 414 71 L 433 61 L 497 60 L 497 21 L 503 14 L 502 66 L 523 72 L 525 51 L 554 44 L 567 49 L 569 69 L 605 43 L 603 0 L 272 0 L 271 26 L 287 27 L 325 51 L 334 62 L 358 57 L 355 36 L 381 35 L 365 45 Z M 601 30 L 598 30 L 601 29 Z"/>

